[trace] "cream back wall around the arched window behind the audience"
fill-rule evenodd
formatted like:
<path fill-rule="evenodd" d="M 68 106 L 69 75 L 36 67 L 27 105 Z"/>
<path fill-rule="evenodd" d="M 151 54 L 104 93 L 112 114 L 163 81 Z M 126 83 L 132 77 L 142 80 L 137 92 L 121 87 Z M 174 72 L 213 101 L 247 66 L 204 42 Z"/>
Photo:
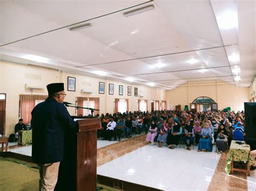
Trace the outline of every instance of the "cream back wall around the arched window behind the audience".
<path fill-rule="evenodd" d="M 166 95 L 169 109 L 175 109 L 178 104 L 181 109 L 184 109 L 185 105 L 190 108 L 190 103 L 196 98 L 207 96 L 218 103 L 220 110 L 231 107 L 231 110 L 241 111 L 244 110 L 244 102 L 250 100 L 250 88 L 236 87 L 222 81 L 188 82 L 184 86 L 167 91 Z"/>

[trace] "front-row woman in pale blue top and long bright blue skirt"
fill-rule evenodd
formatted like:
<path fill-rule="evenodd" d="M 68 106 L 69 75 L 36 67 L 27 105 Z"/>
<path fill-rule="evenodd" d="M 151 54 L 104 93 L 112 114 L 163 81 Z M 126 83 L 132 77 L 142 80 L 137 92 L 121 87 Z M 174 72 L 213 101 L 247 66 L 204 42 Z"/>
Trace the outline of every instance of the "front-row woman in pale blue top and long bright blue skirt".
<path fill-rule="evenodd" d="M 208 123 L 201 131 L 201 138 L 199 139 L 198 152 L 205 150 L 205 152 L 212 152 L 212 130 L 209 128 Z"/>

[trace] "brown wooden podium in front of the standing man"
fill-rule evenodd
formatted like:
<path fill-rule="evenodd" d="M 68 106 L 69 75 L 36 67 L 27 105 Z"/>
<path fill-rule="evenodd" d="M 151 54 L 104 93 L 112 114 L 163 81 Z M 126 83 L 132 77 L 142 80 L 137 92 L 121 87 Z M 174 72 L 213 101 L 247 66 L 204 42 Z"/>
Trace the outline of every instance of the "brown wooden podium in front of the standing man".
<path fill-rule="evenodd" d="M 100 119 L 72 117 L 79 118 L 79 130 L 65 132 L 64 158 L 60 162 L 55 190 L 96 190 Z"/>

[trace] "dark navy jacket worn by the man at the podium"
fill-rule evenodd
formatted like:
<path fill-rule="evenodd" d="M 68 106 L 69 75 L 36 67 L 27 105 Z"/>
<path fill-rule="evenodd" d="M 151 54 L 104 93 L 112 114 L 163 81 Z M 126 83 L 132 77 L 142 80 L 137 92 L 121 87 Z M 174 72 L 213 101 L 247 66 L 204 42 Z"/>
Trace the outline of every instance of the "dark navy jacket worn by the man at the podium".
<path fill-rule="evenodd" d="M 48 97 L 31 112 L 32 160 L 48 164 L 63 160 L 64 134 L 67 128 L 77 128 L 64 104 Z"/>

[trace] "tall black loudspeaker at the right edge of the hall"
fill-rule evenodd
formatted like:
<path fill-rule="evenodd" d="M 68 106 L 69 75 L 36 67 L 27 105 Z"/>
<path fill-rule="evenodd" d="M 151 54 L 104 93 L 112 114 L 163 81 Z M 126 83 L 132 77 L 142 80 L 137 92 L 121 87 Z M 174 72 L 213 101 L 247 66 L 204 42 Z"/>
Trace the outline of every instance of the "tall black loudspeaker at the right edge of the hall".
<path fill-rule="evenodd" d="M 245 140 L 256 150 L 256 103 L 245 102 Z"/>

